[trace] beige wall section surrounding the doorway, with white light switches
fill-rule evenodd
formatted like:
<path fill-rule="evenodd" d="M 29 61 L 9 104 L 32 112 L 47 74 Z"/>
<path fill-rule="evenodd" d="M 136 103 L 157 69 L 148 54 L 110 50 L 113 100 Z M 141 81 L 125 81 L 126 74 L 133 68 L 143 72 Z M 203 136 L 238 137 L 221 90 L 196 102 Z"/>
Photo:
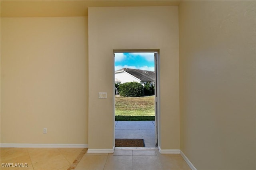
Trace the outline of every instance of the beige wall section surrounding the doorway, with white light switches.
<path fill-rule="evenodd" d="M 89 8 L 88 30 L 89 149 L 114 146 L 113 49 L 160 49 L 159 145 L 179 149 L 178 6 Z"/>

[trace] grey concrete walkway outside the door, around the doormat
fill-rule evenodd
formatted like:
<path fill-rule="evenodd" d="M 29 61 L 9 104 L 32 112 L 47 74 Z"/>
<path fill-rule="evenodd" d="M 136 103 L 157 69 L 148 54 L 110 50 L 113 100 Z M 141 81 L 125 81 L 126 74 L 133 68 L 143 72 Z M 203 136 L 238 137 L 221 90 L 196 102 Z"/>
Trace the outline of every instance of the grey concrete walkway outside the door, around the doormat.
<path fill-rule="evenodd" d="M 155 121 L 116 121 L 116 139 L 144 139 L 145 147 L 155 147 Z"/>

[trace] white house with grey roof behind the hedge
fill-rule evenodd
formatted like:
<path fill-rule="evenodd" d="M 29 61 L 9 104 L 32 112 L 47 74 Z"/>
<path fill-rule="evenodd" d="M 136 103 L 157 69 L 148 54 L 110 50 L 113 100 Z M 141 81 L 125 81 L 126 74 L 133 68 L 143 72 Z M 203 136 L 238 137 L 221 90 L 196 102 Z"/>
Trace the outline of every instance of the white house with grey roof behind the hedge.
<path fill-rule="evenodd" d="M 122 68 L 115 71 L 115 83 L 138 82 L 143 86 L 150 82 L 155 83 L 155 72 L 140 69 Z"/>

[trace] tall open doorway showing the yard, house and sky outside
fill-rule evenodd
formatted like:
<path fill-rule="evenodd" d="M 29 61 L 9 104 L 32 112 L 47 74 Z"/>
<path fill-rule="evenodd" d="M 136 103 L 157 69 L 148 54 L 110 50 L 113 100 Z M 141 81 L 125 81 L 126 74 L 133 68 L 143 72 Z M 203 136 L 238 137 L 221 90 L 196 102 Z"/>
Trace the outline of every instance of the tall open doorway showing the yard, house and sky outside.
<path fill-rule="evenodd" d="M 114 50 L 116 147 L 141 147 L 125 145 L 124 139 L 142 139 L 145 148 L 158 146 L 158 53 Z"/>

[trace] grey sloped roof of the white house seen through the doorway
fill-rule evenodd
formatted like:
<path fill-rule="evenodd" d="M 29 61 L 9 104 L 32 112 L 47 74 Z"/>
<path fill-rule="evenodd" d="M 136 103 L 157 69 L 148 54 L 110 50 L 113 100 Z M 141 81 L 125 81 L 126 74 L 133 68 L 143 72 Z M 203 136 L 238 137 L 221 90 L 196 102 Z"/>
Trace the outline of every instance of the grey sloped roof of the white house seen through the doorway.
<path fill-rule="evenodd" d="M 121 71 L 125 71 L 125 72 L 129 73 L 129 74 L 133 75 L 134 77 L 137 77 L 141 81 L 150 81 L 150 82 L 155 81 L 155 72 L 154 71 L 122 68 L 115 72 L 121 72 Z"/>

